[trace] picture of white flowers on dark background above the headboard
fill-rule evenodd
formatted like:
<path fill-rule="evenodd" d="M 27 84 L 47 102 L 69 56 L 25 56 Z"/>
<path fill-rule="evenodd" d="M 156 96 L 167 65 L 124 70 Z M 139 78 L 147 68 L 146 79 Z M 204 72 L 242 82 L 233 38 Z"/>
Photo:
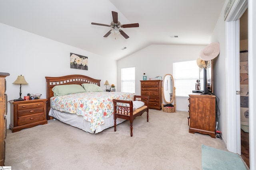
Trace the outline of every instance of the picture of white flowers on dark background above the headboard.
<path fill-rule="evenodd" d="M 70 53 L 70 68 L 88 70 L 88 57 Z"/>

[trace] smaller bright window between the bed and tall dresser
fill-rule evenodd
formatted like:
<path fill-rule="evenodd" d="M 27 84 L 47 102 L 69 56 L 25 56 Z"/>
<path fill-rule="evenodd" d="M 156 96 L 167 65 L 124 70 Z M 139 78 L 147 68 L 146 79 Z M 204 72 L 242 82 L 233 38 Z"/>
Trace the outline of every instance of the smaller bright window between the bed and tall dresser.
<path fill-rule="evenodd" d="M 121 92 L 135 93 L 135 67 L 121 68 Z"/>

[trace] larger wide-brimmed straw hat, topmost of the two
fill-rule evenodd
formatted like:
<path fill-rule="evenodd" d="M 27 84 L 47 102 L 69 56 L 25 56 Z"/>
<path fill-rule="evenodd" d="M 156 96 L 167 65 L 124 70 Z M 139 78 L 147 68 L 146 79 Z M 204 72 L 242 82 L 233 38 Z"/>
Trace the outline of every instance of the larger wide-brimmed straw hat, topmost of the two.
<path fill-rule="evenodd" d="M 215 43 L 210 43 L 204 49 L 202 49 L 200 53 L 200 58 L 204 61 L 209 61 L 217 57 L 220 53 L 220 44 L 215 42 Z"/>

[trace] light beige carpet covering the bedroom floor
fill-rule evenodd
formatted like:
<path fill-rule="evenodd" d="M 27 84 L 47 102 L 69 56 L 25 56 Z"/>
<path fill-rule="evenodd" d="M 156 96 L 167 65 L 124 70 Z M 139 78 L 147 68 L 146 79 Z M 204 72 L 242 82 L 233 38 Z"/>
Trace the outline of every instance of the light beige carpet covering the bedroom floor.
<path fill-rule="evenodd" d="M 90 134 L 58 120 L 6 137 L 5 165 L 12 170 L 201 170 L 201 145 L 226 150 L 224 141 L 188 133 L 188 112 L 149 110 Z"/>

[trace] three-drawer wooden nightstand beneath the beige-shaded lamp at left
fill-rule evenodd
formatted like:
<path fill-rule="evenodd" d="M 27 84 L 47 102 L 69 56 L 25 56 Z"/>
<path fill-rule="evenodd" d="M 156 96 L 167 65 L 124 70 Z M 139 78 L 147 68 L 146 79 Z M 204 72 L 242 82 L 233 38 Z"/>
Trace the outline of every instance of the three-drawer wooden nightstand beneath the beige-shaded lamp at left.
<path fill-rule="evenodd" d="M 12 132 L 36 125 L 47 124 L 46 120 L 47 99 L 34 99 L 24 101 L 10 101 Z"/>

